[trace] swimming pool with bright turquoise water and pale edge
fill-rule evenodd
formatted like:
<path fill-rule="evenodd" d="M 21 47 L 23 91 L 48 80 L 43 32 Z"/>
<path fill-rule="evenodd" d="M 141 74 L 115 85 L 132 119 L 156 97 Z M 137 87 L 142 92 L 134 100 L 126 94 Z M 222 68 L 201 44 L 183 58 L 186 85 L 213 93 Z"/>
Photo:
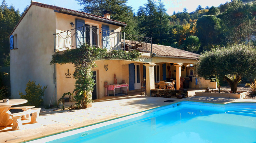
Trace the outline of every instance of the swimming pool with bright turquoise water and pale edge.
<path fill-rule="evenodd" d="M 182 101 L 31 142 L 253 143 L 256 104 Z"/>

